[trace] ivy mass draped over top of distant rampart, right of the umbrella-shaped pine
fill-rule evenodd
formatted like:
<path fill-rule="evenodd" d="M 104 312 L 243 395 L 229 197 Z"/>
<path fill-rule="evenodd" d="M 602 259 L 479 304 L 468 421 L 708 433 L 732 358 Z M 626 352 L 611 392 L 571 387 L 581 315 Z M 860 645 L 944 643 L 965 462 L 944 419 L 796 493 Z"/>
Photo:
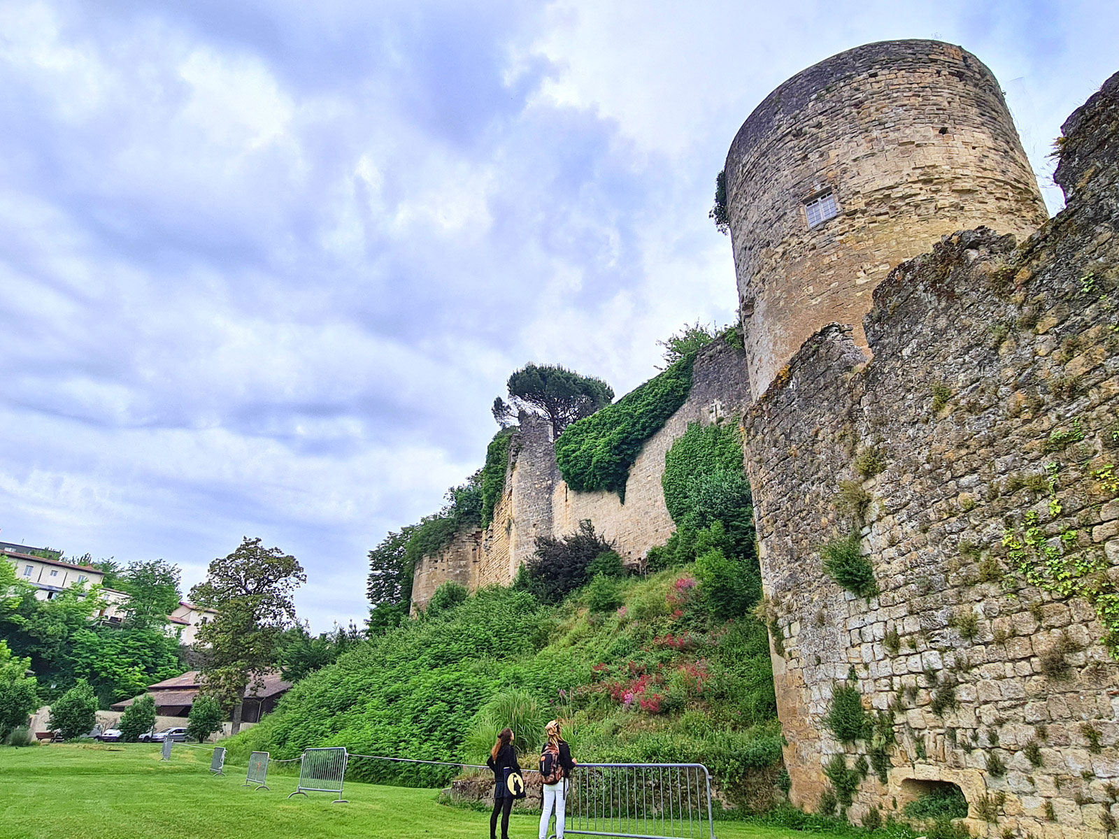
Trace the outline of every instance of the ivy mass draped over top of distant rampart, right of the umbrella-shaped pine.
<path fill-rule="evenodd" d="M 626 500 L 630 466 L 649 437 L 692 390 L 692 362 L 681 358 L 612 405 L 568 425 L 555 442 L 564 481 L 579 492 L 604 490 Z"/>

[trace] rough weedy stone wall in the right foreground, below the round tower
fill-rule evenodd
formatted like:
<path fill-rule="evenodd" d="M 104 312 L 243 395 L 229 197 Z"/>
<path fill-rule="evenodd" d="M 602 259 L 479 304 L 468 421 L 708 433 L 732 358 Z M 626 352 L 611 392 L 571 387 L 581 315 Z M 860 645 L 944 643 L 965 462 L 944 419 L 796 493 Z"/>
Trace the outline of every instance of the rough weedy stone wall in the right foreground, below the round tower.
<path fill-rule="evenodd" d="M 979 836 L 1103 837 L 1119 819 L 1119 668 L 1101 641 L 1119 612 L 1119 75 L 1064 131 L 1064 211 L 1017 247 L 980 228 L 902 264 L 863 321 L 873 360 L 827 327 L 744 420 L 808 809 L 835 755 L 868 753 L 826 724 L 854 677 L 897 739 L 856 821 L 930 782 L 959 785 Z M 853 529 L 869 598 L 821 567 Z"/>

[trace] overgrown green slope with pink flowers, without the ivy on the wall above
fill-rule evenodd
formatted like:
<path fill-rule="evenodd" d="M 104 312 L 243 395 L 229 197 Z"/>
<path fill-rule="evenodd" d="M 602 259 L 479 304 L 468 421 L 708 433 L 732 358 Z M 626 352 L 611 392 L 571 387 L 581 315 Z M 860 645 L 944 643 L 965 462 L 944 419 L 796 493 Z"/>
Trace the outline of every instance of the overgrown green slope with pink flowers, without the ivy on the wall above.
<path fill-rule="evenodd" d="M 580 760 L 700 761 L 728 790 L 764 770 L 772 784 L 780 732 L 764 628 L 752 616 L 709 621 L 687 566 L 618 584 L 621 606 L 592 612 L 590 587 L 558 606 L 491 588 L 411 621 L 308 677 L 258 726 L 228 741 L 293 757 L 308 746 L 365 754 L 481 761 L 495 707 L 513 708 L 521 741 L 571 720 Z M 354 764 L 355 777 L 436 785 L 432 766 Z"/>

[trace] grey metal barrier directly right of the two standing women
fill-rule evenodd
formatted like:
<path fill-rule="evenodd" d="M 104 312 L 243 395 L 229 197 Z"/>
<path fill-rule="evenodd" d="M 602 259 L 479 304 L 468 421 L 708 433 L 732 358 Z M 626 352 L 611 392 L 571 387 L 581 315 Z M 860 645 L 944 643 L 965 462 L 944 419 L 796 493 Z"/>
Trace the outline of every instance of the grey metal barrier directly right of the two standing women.
<path fill-rule="evenodd" d="M 584 763 L 567 785 L 565 833 L 715 839 L 702 763 Z"/>

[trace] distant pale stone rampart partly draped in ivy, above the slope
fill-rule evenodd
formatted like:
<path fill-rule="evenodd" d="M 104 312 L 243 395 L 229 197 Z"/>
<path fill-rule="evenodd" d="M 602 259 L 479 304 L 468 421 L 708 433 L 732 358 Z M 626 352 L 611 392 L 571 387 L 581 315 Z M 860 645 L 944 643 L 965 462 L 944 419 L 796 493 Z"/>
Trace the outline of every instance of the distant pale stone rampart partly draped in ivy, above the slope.
<path fill-rule="evenodd" d="M 457 534 L 436 556 L 424 557 L 415 571 L 413 611 L 422 607 L 443 582 L 453 579 L 471 591 L 508 585 L 535 550 L 539 536 L 575 532 L 590 519 L 615 543 L 622 558 L 640 563 L 649 548 L 662 545 L 675 529 L 660 477 L 665 455 L 688 423 L 739 416 L 750 402 L 745 355 L 741 347 L 718 340 L 696 357 L 692 390 L 664 427 L 638 454 L 626 482 L 626 503 L 614 492 L 571 490 L 556 466 L 552 426 L 521 413 L 519 431 L 509 447 L 505 492 L 485 530 Z"/>

